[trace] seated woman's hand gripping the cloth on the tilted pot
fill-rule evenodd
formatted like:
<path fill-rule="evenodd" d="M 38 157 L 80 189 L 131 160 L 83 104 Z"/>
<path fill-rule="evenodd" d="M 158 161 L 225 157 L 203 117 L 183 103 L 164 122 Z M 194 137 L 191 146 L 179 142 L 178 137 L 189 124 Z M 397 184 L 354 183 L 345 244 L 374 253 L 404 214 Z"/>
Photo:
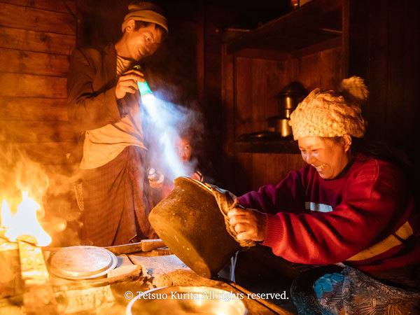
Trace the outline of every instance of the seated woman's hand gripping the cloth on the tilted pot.
<path fill-rule="evenodd" d="M 228 212 L 230 225 L 235 228 L 237 239 L 264 241 L 267 234 L 267 218 L 255 209 L 234 208 Z"/>

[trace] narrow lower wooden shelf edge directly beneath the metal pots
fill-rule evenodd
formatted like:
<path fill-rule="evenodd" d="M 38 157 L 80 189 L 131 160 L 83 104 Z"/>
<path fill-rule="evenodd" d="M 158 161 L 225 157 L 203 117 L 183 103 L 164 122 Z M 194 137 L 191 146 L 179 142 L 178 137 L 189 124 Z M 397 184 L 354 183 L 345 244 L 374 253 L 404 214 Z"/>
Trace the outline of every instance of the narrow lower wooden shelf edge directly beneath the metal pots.
<path fill-rule="evenodd" d="M 230 145 L 230 150 L 239 153 L 300 154 L 297 142 L 293 139 L 235 141 Z"/>

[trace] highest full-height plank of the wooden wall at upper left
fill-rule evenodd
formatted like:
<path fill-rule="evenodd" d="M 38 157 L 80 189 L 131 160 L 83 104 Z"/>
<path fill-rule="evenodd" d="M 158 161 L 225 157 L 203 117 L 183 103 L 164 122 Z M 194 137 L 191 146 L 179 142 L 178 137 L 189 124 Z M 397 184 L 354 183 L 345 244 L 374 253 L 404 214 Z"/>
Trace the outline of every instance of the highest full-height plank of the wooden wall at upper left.
<path fill-rule="evenodd" d="M 0 25 L 3 27 L 48 31 L 57 34 L 76 34 L 76 20 L 69 13 L 52 12 L 3 2 L 0 2 L 0 12 Z"/>

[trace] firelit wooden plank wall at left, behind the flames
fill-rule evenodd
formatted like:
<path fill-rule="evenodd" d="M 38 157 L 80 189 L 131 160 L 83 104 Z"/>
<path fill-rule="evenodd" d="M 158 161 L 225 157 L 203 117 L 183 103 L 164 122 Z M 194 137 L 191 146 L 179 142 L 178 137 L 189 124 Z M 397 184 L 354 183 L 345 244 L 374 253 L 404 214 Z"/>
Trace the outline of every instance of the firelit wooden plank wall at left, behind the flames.
<path fill-rule="evenodd" d="M 43 204 L 44 208 L 45 204 L 48 206 L 45 211 L 50 214 L 45 218 L 48 223 L 57 223 L 50 226 L 50 232 L 57 232 L 54 229 L 58 226 L 66 226 L 71 216 L 69 208 L 73 207 L 71 197 L 64 197 L 72 189 L 64 165 L 67 153 L 76 144 L 66 110 L 69 55 L 76 45 L 74 13 L 73 0 L 0 2 L 2 183 L 13 181 L 13 175 L 9 177 L 8 171 L 17 171 L 18 164 L 14 162 L 22 156 L 27 155 L 36 162 L 24 165 L 36 165 L 46 172 L 50 188 L 47 195 L 43 195 L 48 197 Z M 12 165 L 10 169 L 7 169 L 7 163 Z M 29 171 L 22 173 L 29 176 Z M 36 185 L 39 183 L 34 179 Z"/>

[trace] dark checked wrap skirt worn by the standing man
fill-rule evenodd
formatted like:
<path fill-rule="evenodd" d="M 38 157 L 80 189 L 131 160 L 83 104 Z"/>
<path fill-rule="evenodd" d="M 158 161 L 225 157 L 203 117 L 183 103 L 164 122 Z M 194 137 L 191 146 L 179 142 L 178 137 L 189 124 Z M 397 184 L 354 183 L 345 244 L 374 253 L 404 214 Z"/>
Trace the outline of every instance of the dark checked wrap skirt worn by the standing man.
<path fill-rule="evenodd" d="M 82 171 L 83 244 L 112 246 L 156 238 L 148 222 L 151 190 L 146 150 L 127 146 L 117 158 Z"/>

